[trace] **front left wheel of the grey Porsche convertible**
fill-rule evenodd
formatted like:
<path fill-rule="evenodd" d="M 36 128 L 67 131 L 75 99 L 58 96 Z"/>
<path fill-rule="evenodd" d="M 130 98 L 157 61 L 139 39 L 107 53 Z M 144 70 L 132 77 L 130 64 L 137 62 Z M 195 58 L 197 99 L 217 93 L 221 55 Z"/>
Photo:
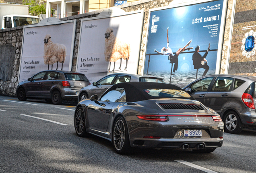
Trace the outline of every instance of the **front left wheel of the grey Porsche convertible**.
<path fill-rule="evenodd" d="M 76 134 L 79 137 L 89 137 L 90 133 L 87 133 L 85 126 L 85 114 L 81 107 L 79 107 L 76 111 L 74 117 L 74 126 L 76 129 Z"/>

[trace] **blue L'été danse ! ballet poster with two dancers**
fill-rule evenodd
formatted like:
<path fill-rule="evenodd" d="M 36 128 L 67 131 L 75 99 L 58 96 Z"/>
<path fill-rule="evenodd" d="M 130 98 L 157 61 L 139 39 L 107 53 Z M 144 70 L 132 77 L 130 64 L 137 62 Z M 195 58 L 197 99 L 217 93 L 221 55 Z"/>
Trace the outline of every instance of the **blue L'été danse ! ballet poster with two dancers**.
<path fill-rule="evenodd" d="M 219 73 L 226 6 L 216 0 L 150 10 L 144 74 L 184 87 Z"/>

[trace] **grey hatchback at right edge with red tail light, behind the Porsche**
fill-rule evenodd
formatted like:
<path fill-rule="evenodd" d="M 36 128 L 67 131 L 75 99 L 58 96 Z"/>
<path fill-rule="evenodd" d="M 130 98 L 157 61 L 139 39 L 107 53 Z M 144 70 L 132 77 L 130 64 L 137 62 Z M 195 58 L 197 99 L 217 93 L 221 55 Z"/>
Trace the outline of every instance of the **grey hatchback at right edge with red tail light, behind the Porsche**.
<path fill-rule="evenodd" d="M 225 131 L 237 134 L 244 125 L 256 127 L 256 77 L 215 74 L 184 87 L 206 107 L 221 115 Z"/>

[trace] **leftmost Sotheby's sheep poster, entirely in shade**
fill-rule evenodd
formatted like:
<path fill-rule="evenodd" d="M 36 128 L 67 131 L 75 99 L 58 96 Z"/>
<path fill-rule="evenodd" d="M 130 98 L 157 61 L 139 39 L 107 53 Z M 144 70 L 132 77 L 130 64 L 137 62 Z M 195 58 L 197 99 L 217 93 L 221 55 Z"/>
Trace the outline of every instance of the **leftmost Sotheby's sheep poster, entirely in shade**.
<path fill-rule="evenodd" d="M 19 82 L 43 70 L 71 70 L 76 20 L 24 26 Z"/>

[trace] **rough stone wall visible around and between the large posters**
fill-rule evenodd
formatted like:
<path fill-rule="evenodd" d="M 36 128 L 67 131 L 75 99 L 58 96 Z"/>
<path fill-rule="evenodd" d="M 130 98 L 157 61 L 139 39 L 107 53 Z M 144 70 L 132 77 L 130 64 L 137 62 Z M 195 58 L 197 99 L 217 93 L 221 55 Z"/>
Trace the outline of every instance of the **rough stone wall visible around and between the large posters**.
<path fill-rule="evenodd" d="M 171 3 L 181 3 L 184 0 L 139 0 L 136 2 L 123 4 L 117 6 L 116 8 L 122 8 L 126 12 L 135 11 L 135 10 L 145 10 L 144 15 L 144 22 L 143 22 L 143 30 L 142 30 L 142 40 L 140 46 L 140 57 L 139 57 L 139 65 L 138 65 L 138 73 L 142 73 L 142 67 L 144 66 L 144 58 L 145 58 L 145 50 L 146 50 L 146 32 L 148 26 L 148 17 L 149 17 L 149 9 L 168 6 Z M 227 14 L 226 14 L 226 22 L 225 22 L 225 32 L 223 37 L 223 49 L 221 55 L 221 74 L 226 73 L 227 64 L 229 60 L 229 45 L 231 42 L 231 35 L 230 35 L 230 26 L 231 26 L 231 13 L 232 13 L 232 6 L 233 0 L 228 0 L 227 6 Z M 75 42 L 74 42 L 74 52 L 73 52 L 73 60 L 72 60 L 72 71 L 76 70 L 76 60 L 77 60 L 77 52 L 78 52 L 78 43 L 79 43 L 79 36 L 80 36 L 80 25 L 82 18 L 90 18 L 97 16 L 103 10 L 97 10 L 85 14 L 79 14 L 76 16 L 70 16 L 66 18 L 61 18 L 60 20 L 73 20 L 77 19 L 76 22 L 76 34 L 75 34 Z M 0 30 L 0 47 L 6 46 L 7 44 L 11 43 L 12 47 L 15 47 L 15 57 L 13 60 L 13 69 L 11 70 L 11 79 L 7 81 L 3 81 L 0 78 L 0 94 L 1 95 L 8 95 L 8 96 L 15 96 L 16 87 L 17 87 L 17 78 L 19 75 L 19 64 L 20 64 L 20 56 L 21 56 L 21 45 L 22 45 L 22 35 L 23 35 L 23 27 L 17 27 L 12 29 L 5 29 Z M 1 48 L 0 48 L 1 50 Z M 1 52 L 0 52 L 1 54 Z M 0 68 L 2 63 L 0 62 Z"/>

